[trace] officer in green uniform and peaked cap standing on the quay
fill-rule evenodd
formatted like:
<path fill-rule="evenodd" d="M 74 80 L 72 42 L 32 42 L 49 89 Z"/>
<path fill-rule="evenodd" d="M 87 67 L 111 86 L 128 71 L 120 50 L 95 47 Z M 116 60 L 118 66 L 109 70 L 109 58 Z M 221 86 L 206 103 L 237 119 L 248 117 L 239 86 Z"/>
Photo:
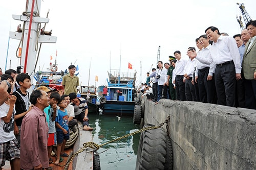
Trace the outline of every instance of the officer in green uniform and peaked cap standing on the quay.
<path fill-rule="evenodd" d="M 174 56 L 169 56 L 169 62 L 171 63 L 173 60 L 175 60 L 175 57 Z M 172 99 L 172 100 L 176 100 L 177 97 L 176 97 L 176 91 L 175 91 L 175 88 L 174 88 L 174 85 L 173 85 L 173 70 L 174 70 L 174 67 L 172 64 L 170 64 L 169 68 L 168 68 L 168 71 L 167 71 L 167 86 L 169 86 L 169 99 Z"/>

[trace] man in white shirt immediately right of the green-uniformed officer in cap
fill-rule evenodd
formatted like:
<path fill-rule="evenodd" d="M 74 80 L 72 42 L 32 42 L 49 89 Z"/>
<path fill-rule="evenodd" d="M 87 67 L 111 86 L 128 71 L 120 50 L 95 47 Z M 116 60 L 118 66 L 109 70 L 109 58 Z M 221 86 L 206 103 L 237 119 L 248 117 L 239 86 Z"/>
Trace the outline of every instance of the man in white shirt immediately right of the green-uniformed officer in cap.
<path fill-rule="evenodd" d="M 177 62 L 175 64 L 175 82 L 174 82 L 176 86 L 177 99 L 179 101 L 185 101 L 186 100 L 185 83 L 183 82 L 183 78 L 184 78 L 184 67 L 186 65 L 186 60 L 183 60 L 181 58 L 180 51 L 175 51 L 174 57 L 177 59 Z"/>

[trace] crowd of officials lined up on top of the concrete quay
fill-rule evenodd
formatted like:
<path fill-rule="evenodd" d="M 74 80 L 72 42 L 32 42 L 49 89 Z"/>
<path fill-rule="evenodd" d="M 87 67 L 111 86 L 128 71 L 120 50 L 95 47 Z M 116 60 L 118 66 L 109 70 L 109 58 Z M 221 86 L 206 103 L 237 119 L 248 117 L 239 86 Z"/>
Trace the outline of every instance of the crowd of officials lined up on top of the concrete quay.
<path fill-rule="evenodd" d="M 256 20 L 233 37 L 208 27 L 196 38 L 198 51 L 192 45 L 188 60 L 175 51 L 169 62 L 158 61 L 140 92 L 155 104 L 171 99 L 256 109 L 255 39 Z"/>

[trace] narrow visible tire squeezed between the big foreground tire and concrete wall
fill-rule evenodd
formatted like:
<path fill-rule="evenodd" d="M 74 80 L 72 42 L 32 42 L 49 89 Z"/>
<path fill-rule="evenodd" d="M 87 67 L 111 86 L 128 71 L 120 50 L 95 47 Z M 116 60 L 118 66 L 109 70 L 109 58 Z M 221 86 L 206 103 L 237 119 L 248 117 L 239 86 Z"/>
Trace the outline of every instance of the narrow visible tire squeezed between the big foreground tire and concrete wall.
<path fill-rule="evenodd" d="M 166 157 L 165 157 L 165 163 L 164 163 L 164 170 L 173 170 L 173 163 L 174 163 L 174 157 L 173 157 L 173 146 L 172 146 L 172 140 L 167 136 L 166 137 Z"/>

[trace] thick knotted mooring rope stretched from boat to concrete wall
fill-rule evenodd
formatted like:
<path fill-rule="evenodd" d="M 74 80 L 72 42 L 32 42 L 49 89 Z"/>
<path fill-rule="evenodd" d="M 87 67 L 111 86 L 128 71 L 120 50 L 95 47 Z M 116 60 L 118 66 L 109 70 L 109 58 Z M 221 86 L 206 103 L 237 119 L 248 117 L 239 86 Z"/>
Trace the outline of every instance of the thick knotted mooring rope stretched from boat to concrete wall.
<path fill-rule="evenodd" d="M 94 142 L 92 142 L 92 141 L 83 143 L 83 144 L 82 144 L 82 145 L 83 145 L 83 148 L 79 149 L 76 153 L 74 153 L 74 154 L 67 160 L 66 164 L 64 164 L 64 165 L 55 164 L 55 163 L 53 163 L 53 164 L 55 164 L 55 165 L 57 165 L 57 166 L 66 166 L 66 165 L 67 165 L 66 167 L 68 168 L 70 162 L 74 159 L 74 157 L 75 157 L 76 155 L 78 155 L 79 153 L 83 152 L 84 150 L 88 149 L 88 148 L 91 148 L 92 151 L 96 152 L 97 150 L 99 150 L 100 147 L 102 147 L 102 146 L 105 145 L 105 144 L 112 143 L 112 142 L 114 142 L 114 141 L 117 141 L 117 140 L 120 140 L 120 139 L 129 137 L 129 136 L 135 135 L 135 134 L 137 134 L 137 133 L 140 133 L 140 132 L 143 132 L 143 131 L 146 131 L 146 130 L 152 130 L 152 129 L 161 128 L 165 123 L 166 123 L 167 135 L 169 135 L 169 131 L 168 131 L 169 119 L 170 119 L 170 116 L 168 116 L 167 119 L 166 119 L 163 123 L 161 123 L 159 126 L 149 126 L 149 127 L 145 127 L 145 128 L 143 128 L 143 129 L 137 130 L 137 131 L 135 131 L 135 132 L 133 132 L 133 133 L 130 133 L 130 134 L 127 134 L 127 135 L 118 137 L 118 138 L 116 138 L 116 139 L 113 139 L 113 140 L 111 140 L 111 141 L 108 141 L 108 142 L 103 143 L 103 144 L 100 144 L 100 145 L 97 144 L 97 143 L 94 143 Z M 65 169 L 66 169 L 66 167 L 65 167 Z"/>

